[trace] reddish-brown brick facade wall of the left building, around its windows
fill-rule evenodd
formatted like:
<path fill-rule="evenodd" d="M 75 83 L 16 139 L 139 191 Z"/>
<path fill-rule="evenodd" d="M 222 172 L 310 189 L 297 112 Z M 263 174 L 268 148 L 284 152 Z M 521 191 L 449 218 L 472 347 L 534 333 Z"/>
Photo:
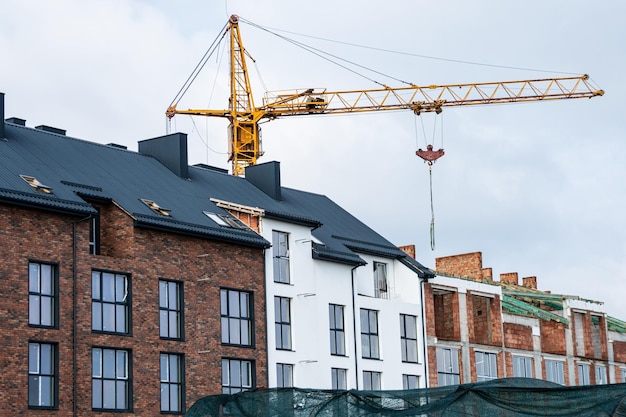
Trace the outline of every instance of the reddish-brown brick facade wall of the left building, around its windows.
<path fill-rule="evenodd" d="M 91 349 L 127 348 L 132 354 L 133 415 L 160 414 L 159 354 L 185 355 L 186 406 L 202 396 L 221 392 L 221 358 L 256 363 L 256 383 L 267 385 L 264 256 L 261 249 L 136 229 L 115 206 L 101 210 L 102 255 L 88 254 L 88 222 L 78 224 L 77 363 L 78 414 L 91 411 Z M 73 401 L 72 224 L 74 218 L 0 206 L 0 409 L 7 415 L 71 415 Z M 206 255 L 198 257 L 198 255 Z M 28 326 L 28 259 L 56 262 L 60 278 L 60 328 Z M 127 273 L 132 288 L 132 335 L 91 331 L 91 271 Z M 185 340 L 159 338 L 158 279 L 180 280 L 184 287 Z M 199 281 L 202 280 L 202 281 Z M 220 343 L 219 288 L 253 292 L 255 348 Z M 59 410 L 27 410 L 28 342 L 59 346 Z M 205 353 L 201 353 L 205 352 Z M 108 415 L 110 413 L 103 413 Z M 117 413 L 119 415 L 128 415 Z"/>

